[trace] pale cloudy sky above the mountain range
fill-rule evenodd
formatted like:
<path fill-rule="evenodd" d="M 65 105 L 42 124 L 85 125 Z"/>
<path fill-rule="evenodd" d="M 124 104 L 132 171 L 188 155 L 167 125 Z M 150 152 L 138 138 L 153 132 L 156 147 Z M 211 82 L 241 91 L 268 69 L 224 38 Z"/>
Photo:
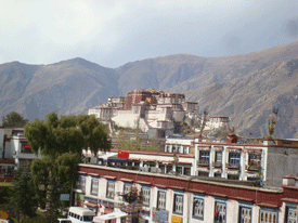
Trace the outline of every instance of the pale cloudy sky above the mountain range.
<path fill-rule="evenodd" d="M 297 0 L 0 0 L 0 64 L 82 57 L 105 67 L 222 56 L 298 41 Z"/>

